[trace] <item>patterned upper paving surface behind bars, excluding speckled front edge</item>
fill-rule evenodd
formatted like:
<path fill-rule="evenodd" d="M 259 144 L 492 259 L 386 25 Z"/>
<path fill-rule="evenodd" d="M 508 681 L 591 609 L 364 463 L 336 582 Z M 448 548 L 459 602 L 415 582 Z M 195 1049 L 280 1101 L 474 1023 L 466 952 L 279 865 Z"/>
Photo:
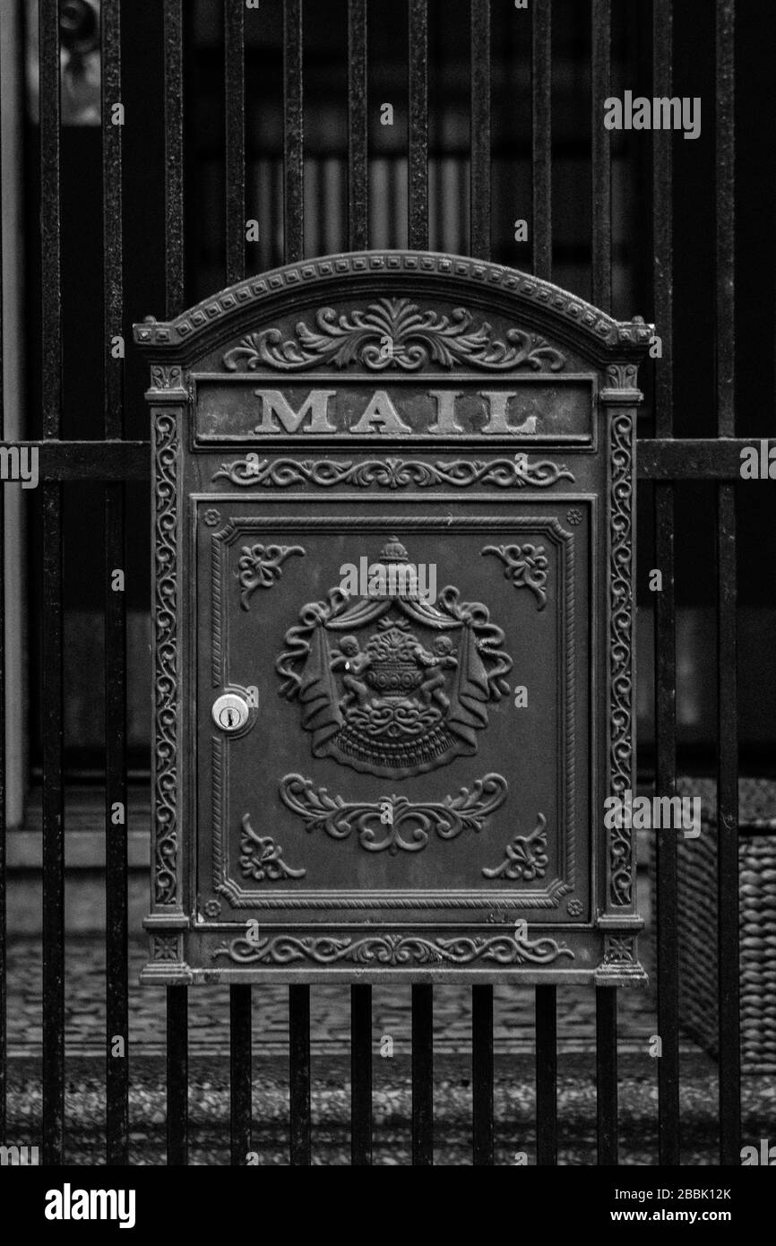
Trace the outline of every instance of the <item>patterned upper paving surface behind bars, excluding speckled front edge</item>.
<path fill-rule="evenodd" d="M 649 969 L 650 948 L 643 947 Z M 164 1053 L 164 989 L 141 987 L 137 978 L 146 946 L 130 948 L 130 1053 Z M 42 961 L 36 938 L 10 941 L 7 958 L 9 1052 L 36 1055 L 41 1044 Z M 466 1052 L 471 1037 L 471 993 L 467 987 L 436 987 L 435 1045 L 440 1052 Z M 288 1050 L 288 988 L 255 987 L 253 992 L 253 1049 L 257 1055 L 284 1055 Z M 387 1034 L 395 1052 L 410 1050 L 410 988 L 372 988 L 375 1040 Z M 66 1049 L 71 1055 L 105 1052 L 105 947 L 102 938 L 77 937 L 66 943 Z M 311 1043 L 315 1052 L 346 1052 L 350 1042 L 350 993 L 345 986 L 311 991 Z M 494 988 L 494 1049 L 518 1052 L 533 1044 L 533 988 Z M 198 986 L 189 992 L 189 1048 L 194 1055 L 228 1054 L 229 996 L 227 987 Z M 622 991 L 619 1034 L 623 1052 L 649 1059 L 649 1035 L 655 1033 L 655 1006 L 650 988 Z M 559 1050 L 584 1052 L 594 1044 L 594 992 L 558 988 Z"/>

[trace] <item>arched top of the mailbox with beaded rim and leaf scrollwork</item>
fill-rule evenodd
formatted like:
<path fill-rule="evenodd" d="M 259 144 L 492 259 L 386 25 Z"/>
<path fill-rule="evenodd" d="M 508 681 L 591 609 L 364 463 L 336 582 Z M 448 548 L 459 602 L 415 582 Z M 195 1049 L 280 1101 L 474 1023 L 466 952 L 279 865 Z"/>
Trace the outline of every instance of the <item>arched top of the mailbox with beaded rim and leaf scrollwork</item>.
<path fill-rule="evenodd" d="M 427 305 L 421 305 L 423 298 Z M 338 300 L 356 299 L 364 300 L 362 307 L 354 308 L 361 323 L 353 316 L 350 323 L 360 334 L 354 331 L 348 340 L 346 328 L 338 325 L 336 308 L 331 307 L 331 316 L 324 313 Z M 380 313 L 370 308 L 380 300 L 404 300 L 395 309 L 400 323 L 396 326 L 394 319 L 392 325 L 399 329 L 404 349 L 385 364 L 386 371 L 420 371 L 435 365 L 442 370 L 561 371 L 567 360 L 557 348 L 553 353 L 556 344 L 594 366 L 628 364 L 644 355 L 651 333 L 651 326 L 638 316 L 615 320 L 551 282 L 501 264 L 435 252 L 372 250 L 300 260 L 245 278 L 174 320 L 148 318 L 136 324 L 135 341 L 148 350 L 152 361 L 176 361 L 187 368 L 197 366 L 233 339 L 235 349 L 222 361 L 227 370 L 269 366 L 293 373 L 331 365 L 333 360 L 339 368 L 370 366 L 376 356 L 370 356 L 369 349 L 359 355 L 359 339 L 366 348 L 370 343 L 379 348 L 379 330 L 382 328 L 386 335 L 391 331 L 390 313 L 381 325 Z M 410 305 L 414 310 L 409 310 Z M 450 309 L 447 315 L 437 312 L 442 305 L 445 312 Z M 300 336 L 272 335 L 273 319 L 315 309 L 323 319 L 303 320 Z M 483 321 L 487 313 L 514 323 L 497 328 Z M 240 351 L 237 339 L 262 325 L 268 326 L 268 335 L 252 358 L 250 344 Z M 537 334 L 547 340 L 533 340 Z M 632 379 L 635 381 L 635 376 Z"/>

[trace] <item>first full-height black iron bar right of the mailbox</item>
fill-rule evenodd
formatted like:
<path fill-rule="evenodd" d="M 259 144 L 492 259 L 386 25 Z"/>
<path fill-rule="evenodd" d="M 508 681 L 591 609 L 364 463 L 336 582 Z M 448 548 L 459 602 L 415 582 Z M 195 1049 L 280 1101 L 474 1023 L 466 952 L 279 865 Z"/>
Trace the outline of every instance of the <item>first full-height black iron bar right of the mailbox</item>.
<path fill-rule="evenodd" d="M 654 0 L 653 81 L 656 97 L 673 92 L 673 4 Z M 655 325 L 663 358 L 655 365 L 655 436 L 674 432 L 674 164 L 673 135 L 653 136 L 653 285 Z M 663 574 L 655 593 L 655 791 L 676 791 L 676 623 L 674 591 L 674 485 L 655 483 L 655 564 Z M 659 1163 L 680 1161 L 679 1134 L 679 880 L 676 832 L 656 831 Z"/>

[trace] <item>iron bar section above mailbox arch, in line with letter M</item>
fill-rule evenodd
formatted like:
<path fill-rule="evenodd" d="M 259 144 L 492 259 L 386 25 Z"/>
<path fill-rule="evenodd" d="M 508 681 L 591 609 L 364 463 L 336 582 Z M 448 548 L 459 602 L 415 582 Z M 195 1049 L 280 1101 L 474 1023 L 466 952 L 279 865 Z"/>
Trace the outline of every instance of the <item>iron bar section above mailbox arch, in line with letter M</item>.
<path fill-rule="evenodd" d="M 301 0 L 283 0 L 283 161 L 285 262 L 290 264 L 304 254 Z"/>

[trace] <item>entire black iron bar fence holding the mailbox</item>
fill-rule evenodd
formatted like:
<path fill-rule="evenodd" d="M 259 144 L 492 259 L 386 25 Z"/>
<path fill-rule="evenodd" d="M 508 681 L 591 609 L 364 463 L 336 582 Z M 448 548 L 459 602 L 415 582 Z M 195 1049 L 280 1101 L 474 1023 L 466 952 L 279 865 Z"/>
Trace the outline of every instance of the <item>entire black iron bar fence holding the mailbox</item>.
<path fill-rule="evenodd" d="M 212 7 L 217 9 L 218 5 Z M 263 6 L 264 7 L 264 6 Z M 470 253 L 491 258 L 491 9 L 493 0 L 471 0 L 471 151 Z M 113 105 L 122 95 L 122 37 L 120 0 L 102 0 L 102 222 L 103 222 L 103 329 L 105 340 L 126 333 L 125 274 L 143 262 L 128 254 L 122 232 L 123 127 L 115 123 Z M 346 135 L 348 135 L 348 238 L 353 249 L 370 244 L 369 237 L 369 19 L 366 0 L 348 0 Z M 600 125 L 603 101 L 612 86 L 612 0 L 592 0 L 589 9 L 590 62 L 589 108 L 592 184 L 589 186 L 592 299 L 610 310 L 613 290 L 613 192 L 612 133 Z M 283 0 L 283 239 L 286 262 L 304 254 L 304 20 L 303 0 Z M 533 0 L 524 30 L 529 31 L 532 128 L 532 262 L 543 278 L 553 274 L 553 60 L 551 0 Z M 716 491 L 716 563 L 710 571 L 716 584 L 717 672 L 717 821 L 719 851 L 719 1125 L 720 1158 L 739 1164 L 740 1059 L 739 1059 L 739 937 L 737 937 L 737 738 L 736 738 L 736 483 L 740 451 L 746 439 L 736 437 L 735 376 L 735 55 L 734 0 L 715 6 L 715 181 L 707 187 L 716 203 L 715 282 L 712 310 L 715 341 L 714 392 L 716 436 L 681 437 L 674 434 L 674 136 L 651 136 L 653 288 L 654 310 L 663 355 L 654 373 L 654 436 L 638 445 L 638 475 L 654 487 L 655 566 L 663 572 L 663 592 L 655 597 L 655 773 L 656 790 L 673 794 L 676 781 L 676 602 L 675 602 L 675 501 L 689 482 L 712 482 Z M 225 122 L 225 277 L 235 282 L 245 274 L 247 137 L 244 27 L 253 16 L 244 0 L 223 0 L 223 69 Z M 674 95 L 674 6 L 671 0 L 653 2 L 651 80 L 655 96 Z M 187 304 L 188 188 L 186 183 L 184 82 L 188 6 L 183 0 L 163 0 L 163 106 L 164 106 L 164 313 L 172 318 Z M 110 568 L 125 564 L 127 540 L 126 486 L 149 476 L 146 440 L 125 437 L 127 404 L 135 407 L 142 392 L 128 392 L 125 363 L 105 355 L 103 440 L 62 437 L 62 238 L 61 125 L 60 125 L 60 6 L 40 2 L 40 289 L 31 294 L 40 315 L 41 427 L 40 440 L 25 442 L 39 451 L 41 481 L 40 548 L 34 564 L 42 576 L 40 619 L 39 701 L 42 739 L 42 877 L 44 877 L 44 1008 L 42 1008 L 42 1156 L 46 1164 L 62 1161 L 66 1146 L 65 1113 L 65 846 L 64 810 L 64 603 L 62 502 L 67 490 L 82 482 L 100 482 L 105 490 L 105 816 L 106 816 L 106 1047 L 112 1035 L 127 1035 L 127 846 L 117 834 L 111 811 L 127 805 L 127 612 L 126 597 L 112 591 Z M 649 49 L 646 50 L 649 54 Z M 372 54 L 374 50 L 372 50 Z M 649 60 L 649 56 L 648 56 Z M 156 61 L 154 61 L 156 64 Z M 428 243 L 428 7 L 426 0 L 407 2 L 407 237 L 411 248 Z M 126 86 L 126 82 L 125 82 Z M 710 118 L 707 118 L 710 120 Z M 649 188 L 646 188 L 649 192 Z M 578 187 L 583 197 L 584 187 Z M 147 308 L 148 312 L 158 310 Z M 117 328 L 118 326 L 118 328 Z M 128 339 L 127 339 L 128 340 Z M 688 365 L 690 366 L 690 365 Z M 1 391 L 1 390 L 0 390 Z M 2 435 L 5 435 L 2 432 Z M 0 541 L 0 556 L 2 541 Z M 12 592 L 9 584 L 9 592 Z M 0 622 L 0 644 L 4 627 Z M 0 670 L 2 670 L 0 664 Z M 2 675 L 0 674 L 0 680 Z M 0 682 L 0 708 L 5 701 Z M 0 754 L 0 759 L 4 754 Z M 5 801 L 5 782 L 0 785 Z M 2 812 L 2 810 L 0 810 Z M 4 819 L 5 825 L 5 819 Z M 5 839 L 0 840 L 4 851 Z M 0 860 L 5 885 L 5 860 Z M 679 1113 L 679 977 L 676 841 L 669 831 L 658 835 L 658 1032 L 663 1055 L 659 1077 L 660 1163 L 680 1160 Z M 5 900 L 5 886 L 0 891 Z M 4 910 L 5 913 L 5 910 Z M 5 966 L 5 917 L 0 959 Z M 252 989 L 230 987 L 230 1087 L 232 1163 L 243 1164 L 252 1133 Z M 290 1163 L 311 1160 L 310 1119 L 310 988 L 289 987 L 289 1095 Z M 0 1103 L 5 1106 L 5 972 L 2 974 L 4 1079 Z M 188 1148 L 188 1024 L 187 988 L 167 989 L 167 1134 L 168 1164 L 186 1164 Z M 554 987 L 536 988 L 536 1120 L 537 1163 L 552 1165 L 558 1155 L 557 1120 L 557 1013 Z M 597 998 L 598 1163 L 618 1163 L 617 994 L 599 988 Z M 412 987 L 412 1161 L 432 1161 L 432 988 Z M 371 1158 L 371 988 L 351 988 L 353 1055 L 353 1163 Z M 476 1164 L 493 1163 L 493 994 L 488 986 L 472 987 L 472 1148 Z M 131 1057 L 106 1059 L 107 1163 L 128 1159 L 128 1095 Z M 2 1121 L 2 1133 L 5 1134 Z"/>

